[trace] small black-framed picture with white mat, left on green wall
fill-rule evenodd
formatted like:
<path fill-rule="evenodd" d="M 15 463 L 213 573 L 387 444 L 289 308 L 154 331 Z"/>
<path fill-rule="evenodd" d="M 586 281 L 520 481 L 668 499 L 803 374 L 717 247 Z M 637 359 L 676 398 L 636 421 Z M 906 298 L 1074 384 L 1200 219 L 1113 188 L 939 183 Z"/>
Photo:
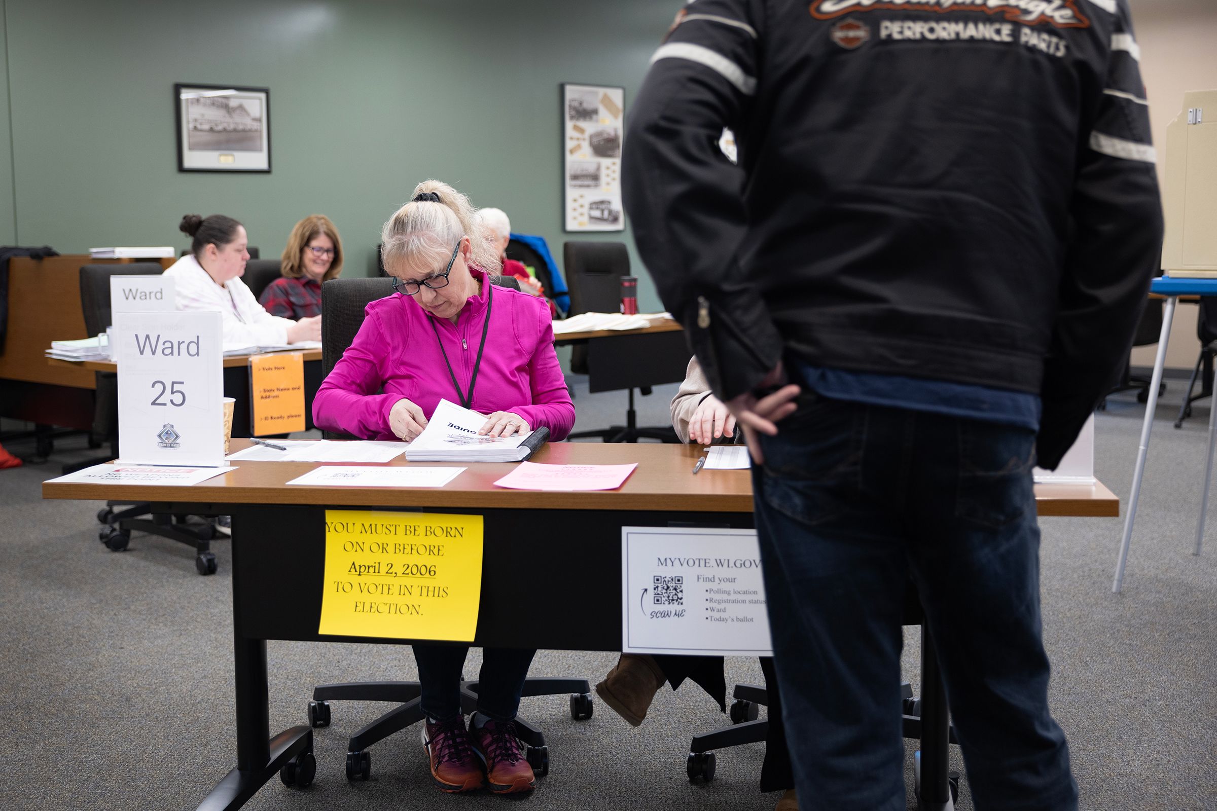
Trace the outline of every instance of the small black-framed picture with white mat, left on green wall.
<path fill-rule="evenodd" d="M 270 171 L 270 91 L 173 85 L 178 171 Z"/>

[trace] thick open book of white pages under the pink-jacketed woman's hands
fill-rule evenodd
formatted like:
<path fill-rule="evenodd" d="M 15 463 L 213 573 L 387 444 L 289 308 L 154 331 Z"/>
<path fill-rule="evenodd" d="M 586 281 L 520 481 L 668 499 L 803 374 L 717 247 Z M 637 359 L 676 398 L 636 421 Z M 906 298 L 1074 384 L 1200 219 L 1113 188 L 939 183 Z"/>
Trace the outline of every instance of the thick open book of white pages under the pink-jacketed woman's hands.
<path fill-rule="evenodd" d="M 549 428 L 523 435 L 482 437 L 486 417 L 441 400 L 422 433 L 405 449 L 409 462 L 522 462 L 549 440 Z"/>

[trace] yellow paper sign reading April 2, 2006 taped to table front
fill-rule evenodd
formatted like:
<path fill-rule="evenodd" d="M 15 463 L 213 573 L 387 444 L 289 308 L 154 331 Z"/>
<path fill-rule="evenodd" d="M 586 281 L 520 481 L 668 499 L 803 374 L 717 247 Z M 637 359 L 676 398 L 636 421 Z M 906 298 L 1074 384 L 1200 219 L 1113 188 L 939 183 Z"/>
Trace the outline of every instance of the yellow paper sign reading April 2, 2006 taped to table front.
<path fill-rule="evenodd" d="M 318 633 L 472 642 L 482 517 L 325 511 Z"/>

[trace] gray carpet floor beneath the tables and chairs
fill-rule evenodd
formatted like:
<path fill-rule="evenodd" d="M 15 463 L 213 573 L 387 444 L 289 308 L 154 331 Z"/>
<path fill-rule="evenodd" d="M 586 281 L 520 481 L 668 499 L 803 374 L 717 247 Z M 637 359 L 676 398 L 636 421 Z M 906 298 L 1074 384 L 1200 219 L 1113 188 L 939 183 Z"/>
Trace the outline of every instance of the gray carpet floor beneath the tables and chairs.
<path fill-rule="evenodd" d="M 576 388 L 581 429 L 621 422 L 623 393 Z M 1217 809 L 1217 526 L 1205 553 L 1191 554 L 1207 407 L 1200 404 L 1172 430 L 1182 384 L 1171 389 L 1150 445 L 1123 592 L 1110 591 L 1122 519 L 1042 522 L 1053 710 L 1069 734 L 1087 810 Z M 667 423 L 673 390 L 639 399 L 643 424 Z M 1121 499 L 1143 413 L 1121 395 L 1098 419 L 1097 473 Z M 9 450 L 32 454 L 33 444 Z M 163 539 L 136 535 L 128 552 L 107 551 L 96 536 L 99 505 L 40 499 L 40 483 L 60 464 L 91 454 L 67 439 L 45 464 L 0 472 L 0 809 L 194 809 L 235 762 L 229 545 L 214 544 L 219 574 L 211 578 L 195 573 L 191 550 Z M 913 629 L 905 641 L 905 678 L 916 685 Z M 315 683 L 415 676 L 408 647 L 268 647 L 273 731 L 303 722 Z M 532 672 L 596 681 L 615 660 L 540 652 Z M 477 665 L 475 651 L 466 674 Z M 759 668 L 729 659 L 728 678 L 758 682 Z M 273 781 L 246 807 L 514 801 L 439 794 L 416 728 L 377 744 L 371 779 L 348 784 L 346 739 L 382 709 L 336 703 L 332 726 L 316 732 L 315 784 L 295 790 Z M 537 792 L 516 800 L 537 811 L 759 810 L 776 801 L 757 790 L 763 744 L 719 750 L 716 779 L 688 782 L 690 734 L 724 721 L 696 687 L 662 692 L 639 728 L 599 702 L 589 721 L 572 721 L 565 697 L 525 699 L 522 711 L 544 728 L 553 764 Z M 958 751 L 953 758 L 961 768 Z M 912 759 L 909 747 L 909 787 Z M 972 807 L 966 778 L 958 807 Z"/>

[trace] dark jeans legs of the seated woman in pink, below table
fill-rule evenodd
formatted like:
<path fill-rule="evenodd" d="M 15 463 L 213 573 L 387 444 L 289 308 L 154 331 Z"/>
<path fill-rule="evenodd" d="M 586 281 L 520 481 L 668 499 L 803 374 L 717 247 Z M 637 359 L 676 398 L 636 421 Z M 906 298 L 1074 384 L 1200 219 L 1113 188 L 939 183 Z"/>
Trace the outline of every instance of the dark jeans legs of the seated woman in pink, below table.
<path fill-rule="evenodd" d="M 419 665 L 421 709 L 432 721 L 448 721 L 460 715 L 461 670 L 467 644 L 415 644 Z M 520 711 L 528 666 L 537 651 L 483 648 L 482 672 L 478 674 L 477 710 L 495 721 L 510 721 Z"/>

